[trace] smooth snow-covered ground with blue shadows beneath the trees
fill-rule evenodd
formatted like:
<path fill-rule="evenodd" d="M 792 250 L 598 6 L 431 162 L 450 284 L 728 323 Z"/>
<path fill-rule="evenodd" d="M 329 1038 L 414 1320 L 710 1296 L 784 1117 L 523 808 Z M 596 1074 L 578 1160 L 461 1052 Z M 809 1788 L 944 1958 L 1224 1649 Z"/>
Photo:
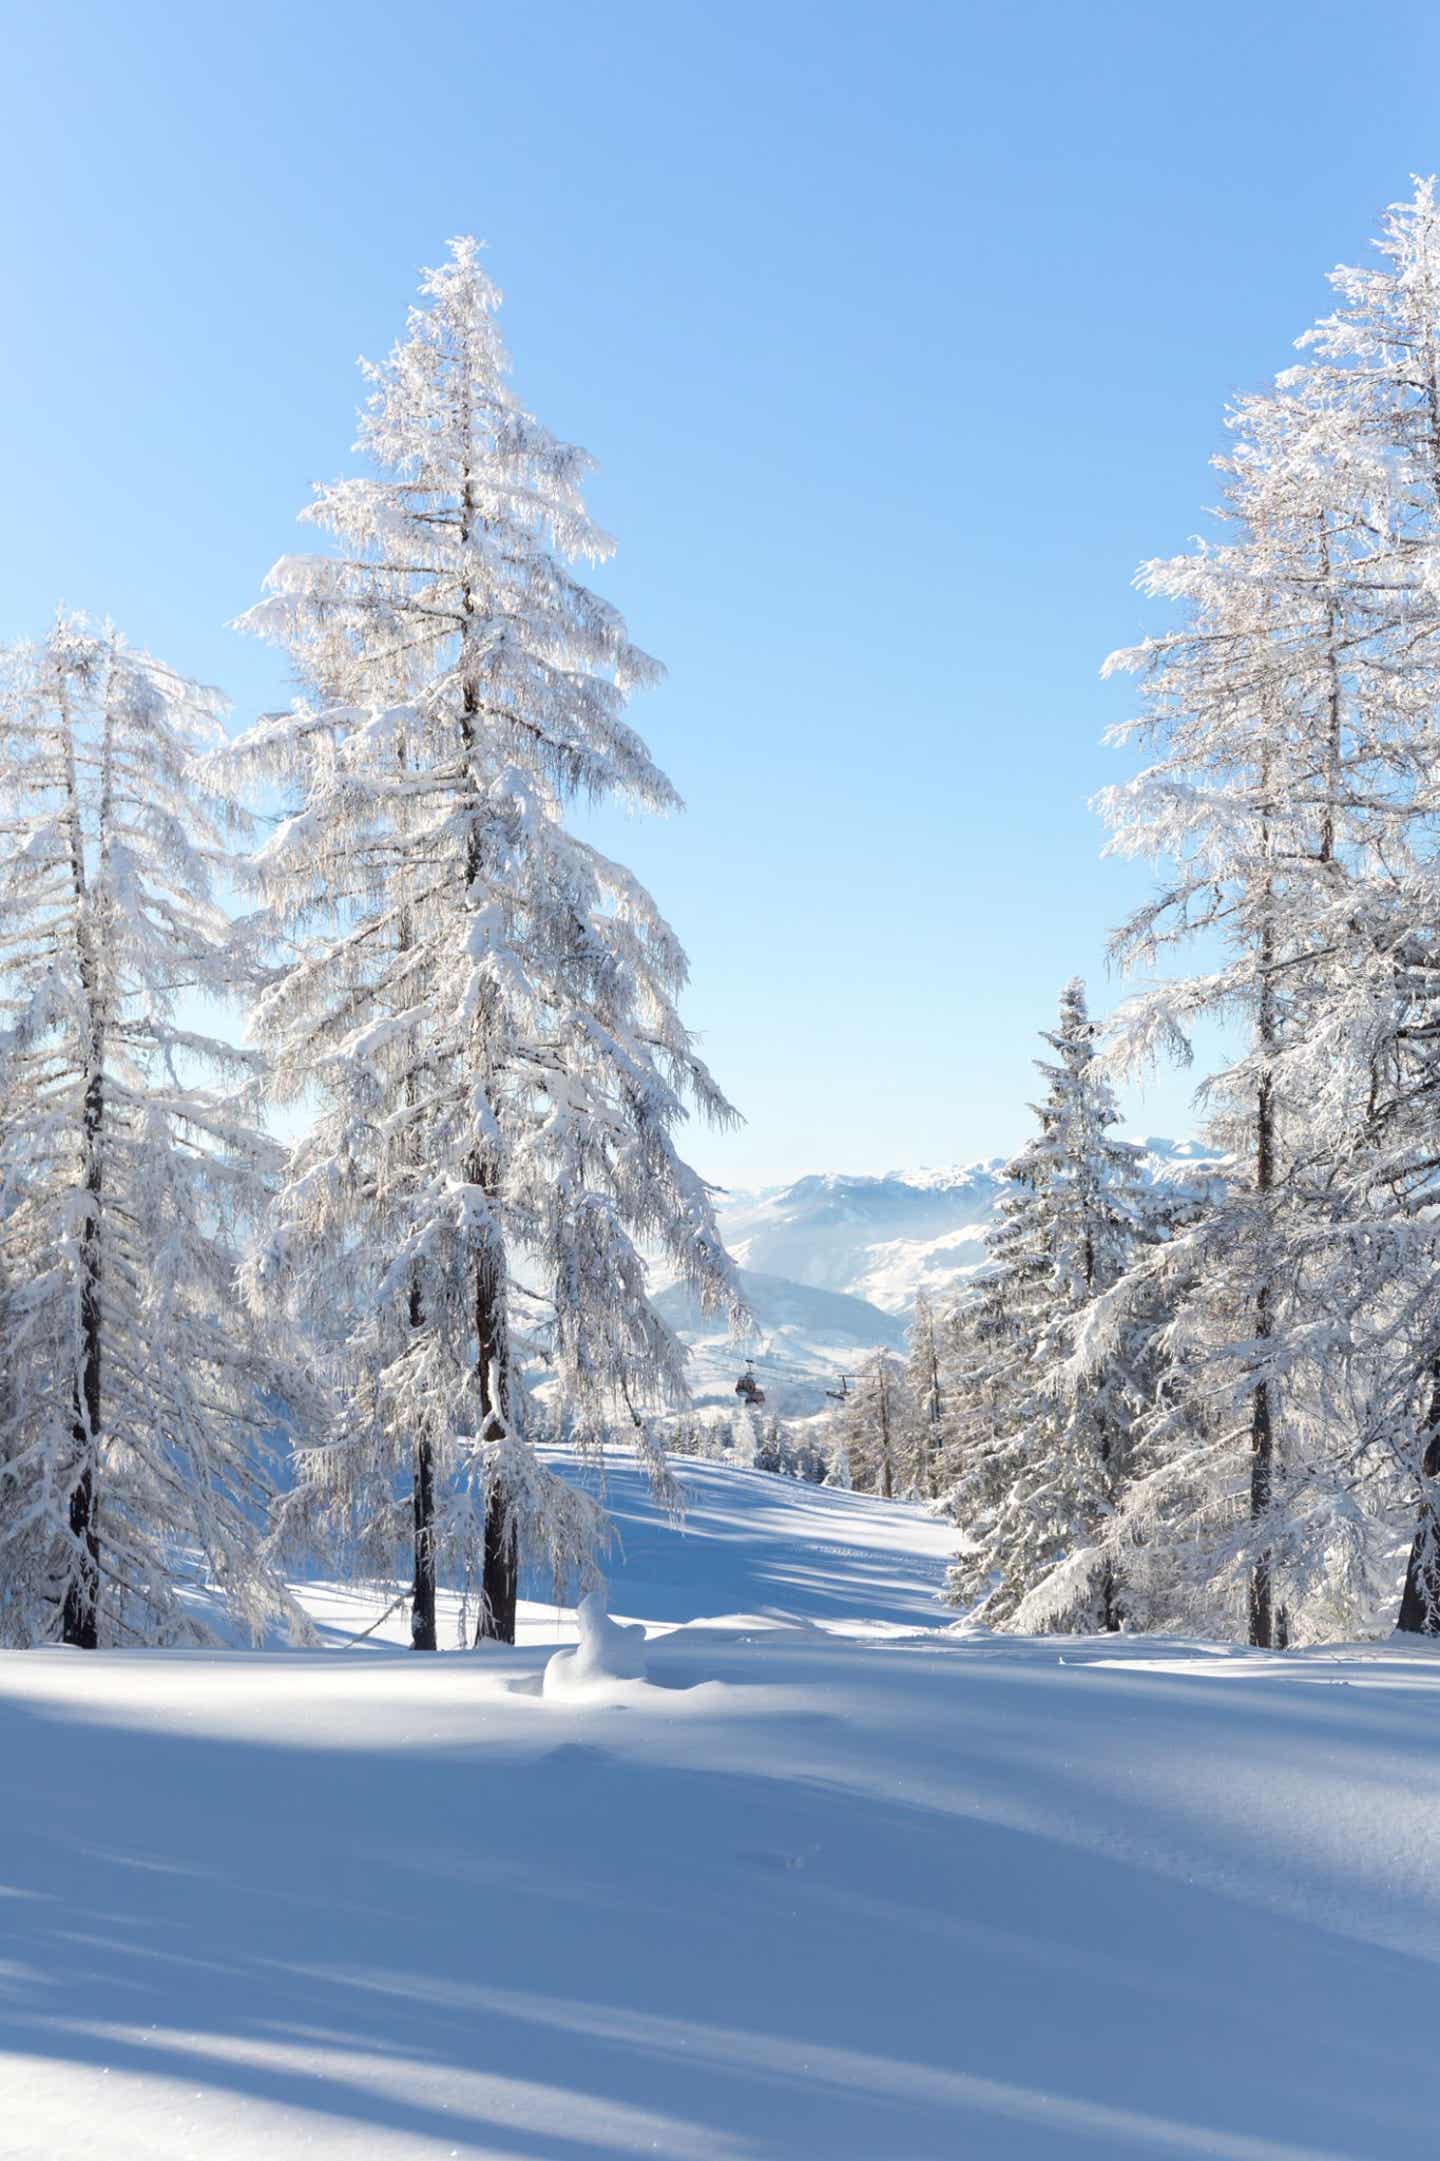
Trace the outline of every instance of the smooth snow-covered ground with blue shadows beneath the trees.
<path fill-rule="evenodd" d="M 943 1526 L 683 1476 L 592 1694 L 4 1655 L 0 2155 L 1436 2150 L 1440 1657 L 949 1634 Z"/>

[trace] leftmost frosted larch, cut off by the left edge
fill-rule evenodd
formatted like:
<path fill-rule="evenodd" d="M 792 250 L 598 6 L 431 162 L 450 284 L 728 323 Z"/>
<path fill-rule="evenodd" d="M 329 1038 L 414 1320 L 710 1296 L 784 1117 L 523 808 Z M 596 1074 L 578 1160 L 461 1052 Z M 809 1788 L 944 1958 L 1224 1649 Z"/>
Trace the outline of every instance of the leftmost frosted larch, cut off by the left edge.
<path fill-rule="evenodd" d="M 61 618 L 0 657 L 0 1640 L 288 1614 L 262 1558 L 283 1377 L 236 1301 L 279 1152 L 199 782 L 221 704 Z"/>

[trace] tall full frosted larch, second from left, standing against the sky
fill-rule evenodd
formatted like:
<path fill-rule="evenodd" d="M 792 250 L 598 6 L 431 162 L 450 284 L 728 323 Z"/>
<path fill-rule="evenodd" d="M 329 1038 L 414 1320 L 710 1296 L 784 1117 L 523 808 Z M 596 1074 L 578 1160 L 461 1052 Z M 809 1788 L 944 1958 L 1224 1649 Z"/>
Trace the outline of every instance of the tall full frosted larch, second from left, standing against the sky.
<path fill-rule="evenodd" d="M 279 562 L 244 618 L 305 698 L 231 774 L 290 808 L 257 860 L 283 970 L 255 1033 L 279 1098 L 316 1106 L 253 1290 L 346 1316 L 339 1437 L 288 1528 L 346 1532 L 376 1573 L 409 1541 L 432 1649 L 441 1567 L 512 1640 L 519 1556 L 562 1575 L 603 1534 L 534 1452 L 525 1368 L 582 1444 L 616 1420 L 644 1444 L 640 1407 L 685 1374 L 642 1256 L 707 1310 L 739 1294 L 675 1143 L 688 1106 L 731 1117 L 677 1016 L 685 957 L 566 826 L 677 806 L 625 722 L 657 668 L 571 571 L 610 553 L 588 460 L 512 395 L 476 242 L 422 294 L 368 367 L 370 473 L 305 512 L 331 549 Z"/>

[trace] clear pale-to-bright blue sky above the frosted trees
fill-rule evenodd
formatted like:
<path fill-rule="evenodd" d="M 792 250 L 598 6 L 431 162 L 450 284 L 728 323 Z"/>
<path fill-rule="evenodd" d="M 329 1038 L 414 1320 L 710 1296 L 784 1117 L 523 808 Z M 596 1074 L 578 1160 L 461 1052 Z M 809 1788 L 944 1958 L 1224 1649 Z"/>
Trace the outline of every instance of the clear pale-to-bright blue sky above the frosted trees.
<path fill-rule="evenodd" d="M 694 962 L 733 1182 L 1014 1145 L 1146 873 L 1088 797 L 1224 400 L 1440 164 L 1440 13 L 307 0 L 0 9 L 0 631 L 56 601 L 281 702 L 227 631 L 352 465 L 355 357 L 491 244 L 525 402 L 690 810 L 605 841 Z M 1126 1104 L 1189 1130 L 1191 1080 Z"/>

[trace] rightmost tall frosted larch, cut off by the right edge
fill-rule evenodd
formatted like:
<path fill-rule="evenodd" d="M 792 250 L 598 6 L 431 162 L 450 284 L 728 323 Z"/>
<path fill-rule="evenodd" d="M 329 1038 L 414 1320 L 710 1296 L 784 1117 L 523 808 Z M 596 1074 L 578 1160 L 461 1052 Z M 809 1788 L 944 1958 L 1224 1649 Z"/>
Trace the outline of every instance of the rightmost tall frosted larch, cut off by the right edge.
<path fill-rule="evenodd" d="M 1416 179 L 1395 203 L 1373 268 L 1338 268 L 1334 313 L 1306 333 L 1304 380 L 1336 443 L 1379 465 L 1384 514 L 1345 564 L 1388 711 L 1386 787 L 1362 804 L 1371 843 L 1347 912 L 1345 966 L 1319 1057 L 1362 1057 L 1358 1115 L 1330 1119 L 1328 1158 L 1358 1236 L 1347 1318 L 1371 1366 L 1366 1485 L 1412 1515 L 1399 1627 L 1440 1632 L 1440 207 Z M 1356 1048 L 1351 1048 L 1356 1046 Z M 1397 1498 L 1399 1498 L 1397 1495 Z"/>

